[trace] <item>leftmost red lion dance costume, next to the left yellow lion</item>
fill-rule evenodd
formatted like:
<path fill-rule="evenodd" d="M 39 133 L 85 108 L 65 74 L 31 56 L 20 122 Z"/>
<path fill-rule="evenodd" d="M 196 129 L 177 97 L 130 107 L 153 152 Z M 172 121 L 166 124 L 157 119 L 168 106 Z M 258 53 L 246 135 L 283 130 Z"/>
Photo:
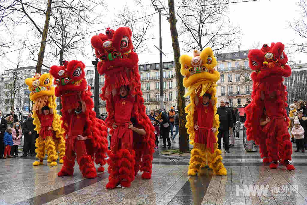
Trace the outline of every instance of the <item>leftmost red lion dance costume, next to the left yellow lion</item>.
<path fill-rule="evenodd" d="M 103 120 L 96 118 L 96 113 L 93 111 L 94 104 L 91 98 L 91 87 L 87 85 L 85 79 L 84 63 L 76 60 L 64 61 L 63 63 L 64 66 L 53 65 L 49 71 L 55 78 L 55 95 L 61 97 L 63 106 L 61 110 L 62 127 L 65 130 L 65 135 L 68 135 L 65 156 L 63 157 L 64 163 L 58 176 L 73 175 L 73 167 L 77 157 L 82 175 L 87 178 L 94 178 L 97 175 L 94 160 L 96 164 L 100 164 L 98 171 L 104 171 L 103 165 L 106 163 L 105 152 L 107 151 L 107 128 Z M 78 93 L 80 93 L 80 97 Z M 86 122 L 78 120 L 80 116 L 76 117 L 78 119 L 72 118 L 72 115 L 74 115 L 72 110 L 78 106 L 80 100 L 86 104 L 86 111 L 81 113 L 82 116 L 80 114 L 82 119 L 86 119 Z M 88 140 L 76 140 L 76 136 L 69 136 L 70 129 L 72 129 L 71 124 L 76 124 L 75 128 L 78 128 L 78 124 L 81 124 L 79 135 L 87 136 Z"/>

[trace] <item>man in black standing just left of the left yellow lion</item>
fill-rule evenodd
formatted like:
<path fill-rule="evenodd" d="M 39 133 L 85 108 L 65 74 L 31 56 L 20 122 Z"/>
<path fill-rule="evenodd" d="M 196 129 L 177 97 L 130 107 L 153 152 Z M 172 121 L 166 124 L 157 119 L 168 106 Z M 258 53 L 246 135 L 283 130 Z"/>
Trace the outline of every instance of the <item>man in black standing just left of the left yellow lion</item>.
<path fill-rule="evenodd" d="M 23 130 L 24 130 L 24 144 L 23 144 L 23 155 L 22 157 L 28 156 L 30 150 L 31 156 L 34 156 L 35 150 L 35 135 L 34 131 L 35 125 L 33 124 L 34 118 L 32 118 L 32 113 L 29 113 L 27 120 L 25 120 Z"/>

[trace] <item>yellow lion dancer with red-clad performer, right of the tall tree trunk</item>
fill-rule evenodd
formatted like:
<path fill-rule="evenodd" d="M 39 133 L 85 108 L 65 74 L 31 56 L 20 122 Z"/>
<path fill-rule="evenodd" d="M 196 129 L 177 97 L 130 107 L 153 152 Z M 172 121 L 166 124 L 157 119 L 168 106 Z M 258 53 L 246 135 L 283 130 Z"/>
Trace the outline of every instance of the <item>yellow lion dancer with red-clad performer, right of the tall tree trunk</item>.
<path fill-rule="evenodd" d="M 185 107 L 187 113 L 186 128 L 190 144 L 194 147 L 188 175 L 196 175 L 200 168 L 209 165 L 216 175 L 227 175 L 222 163 L 221 150 L 218 149 L 217 134 L 220 126 L 219 115 L 216 114 L 216 81 L 220 73 L 214 69 L 216 58 L 211 48 L 202 52 L 193 51 L 193 57 L 181 55 L 181 74 L 185 76 L 183 85 L 188 88 L 185 97 L 191 102 Z"/>

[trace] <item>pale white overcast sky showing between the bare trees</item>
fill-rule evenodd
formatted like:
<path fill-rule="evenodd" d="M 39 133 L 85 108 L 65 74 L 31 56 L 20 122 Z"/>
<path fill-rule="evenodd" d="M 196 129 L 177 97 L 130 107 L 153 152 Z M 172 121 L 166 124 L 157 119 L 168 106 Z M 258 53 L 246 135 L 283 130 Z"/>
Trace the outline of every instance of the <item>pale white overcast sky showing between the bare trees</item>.
<path fill-rule="evenodd" d="M 115 14 L 122 9 L 122 7 L 125 5 L 125 2 L 130 7 L 135 6 L 135 0 L 122 0 L 120 1 L 120 3 L 119 1 L 106 1 L 108 11 L 106 12 L 107 17 L 102 17 L 104 23 L 101 25 L 89 27 L 87 28 L 87 31 L 95 31 L 106 28 L 108 26 L 116 25 L 117 23 L 114 22 L 114 19 L 116 18 Z M 167 0 L 161 0 L 161 2 L 164 3 L 165 7 L 167 7 Z M 296 5 L 296 2 L 299 2 L 299 0 L 260 0 L 257 2 L 231 4 L 229 6 L 229 11 L 227 15 L 230 18 L 230 21 L 233 26 L 239 26 L 241 28 L 242 34 L 240 37 L 240 41 L 238 41 L 238 43 L 233 46 L 233 48 L 231 48 L 230 50 L 224 50 L 223 52 L 233 52 L 233 50 L 237 49 L 238 45 L 240 45 L 241 50 L 248 50 L 251 49 L 251 46 L 258 41 L 260 43 L 260 46 L 265 43 L 270 44 L 271 42 L 278 41 L 284 43 L 285 45 L 292 43 L 293 40 L 300 43 L 307 42 L 307 40 L 298 37 L 294 33 L 294 31 L 289 28 L 288 25 L 288 22 L 292 21 L 293 18 L 298 17 L 298 7 Z M 146 14 L 152 14 L 156 12 L 151 6 L 151 0 L 142 0 L 142 4 L 145 6 L 144 9 L 146 9 Z M 148 50 L 138 54 L 140 64 L 159 62 L 158 50 L 153 46 L 159 45 L 158 14 L 153 15 L 153 20 L 155 26 L 153 26 L 153 28 L 149 30 L 149 32 L 153 34 L 154 39 L 150 40 L 147 43 Z M 22 28 L 24 27 L 20 27 L 18 30 L 16 30 L 16 34 L 14 36 L 16 38 L 15 40 L 24 41 L 26 38 L 26 42 L 28 44 L 37 43 L 41 40 L 34 37 L 33 33 L 31 32 L 29 34 L 26 34 Z M 104 33 L 104 30 L 98 33 Z M 83 61 L 87 66 L 92 66 L 91 61 L 93 60 L 93 57 L 91 57 L 92 51 L 90 47 L 90 39 L 93 35 L 95 35 L 95 33 L 86 35 L 86 38 L 88 39 L 88 45 L 84 49 L 88 53 L 88 55 L 86 57 L 77 56 L 77 60 Z M 179 37 L 179 40 L 184 39 L 181 39 L 181 37 Z M 6 49 L 5 51 L 13 50 L 17 47 Z M 19 47 L 21 46 L 19 45 Z M 162 17 L 162 49 L 163 52 L 166 54 L 166 57 L 163 56 L 163 61 L 173 61 L 173 48 L 170 36 L 169 22 L 166 20 L 165 16 Z M 182 50 L 183 49 L 181 45 L 181 54 L 184 54 L 185 52 L 183 52 Z M 5 64 L 6 67 L 10 67 L 10 65 L 14 66 L 10 61 L 17 62 L 17 56 L 18 52 L 7 53 L 6 58 L 0 57 L 0 61 L 2 61 L 2 64 Z M 36 65 L 36 62 L 29 59 L 28 51 L 26 49 L 23 50 L 22 56 L 23 62 L 21 66 Z M 7 59 L 9 59 L 10 61 L 7 61 Z M 75 59 L 75 57 L 71 57 L 67 60 L 73 59 Z M 297 61 L 297 63 L 299 60 L 301 60 L 302 62 L 307 62 L 306 55 L 298 52 L 292 55 L 291 60 Z M 57 63 L 57 61 L 53 62 L 53 64 Z M 2 66 L 0 68 L 0 71 L 2 71 L 3 69 L 4 67 Z"/>

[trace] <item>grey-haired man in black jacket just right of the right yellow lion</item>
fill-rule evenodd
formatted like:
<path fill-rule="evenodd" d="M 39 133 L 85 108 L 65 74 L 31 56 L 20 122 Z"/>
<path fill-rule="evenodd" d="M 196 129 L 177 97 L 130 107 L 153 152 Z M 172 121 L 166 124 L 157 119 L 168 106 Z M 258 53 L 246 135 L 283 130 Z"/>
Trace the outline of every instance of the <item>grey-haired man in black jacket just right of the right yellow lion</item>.
<path fill-rule="evenodd" d="M 220 101 L 220 107 L 217 108 L 217 114 L 219 114 L 220 118 L 219 134 L 217 136 L 219 139 L 219 149 L 221 149 L 221 142 L 223 136 L 223 144 L 225 145 L 225 151 L 227 153 L 230 153 L 228 147 L 228 136 L 229 130 L 232 128 L 232 114 L 230 109 L 225 106 L 225 101 Z"/>

